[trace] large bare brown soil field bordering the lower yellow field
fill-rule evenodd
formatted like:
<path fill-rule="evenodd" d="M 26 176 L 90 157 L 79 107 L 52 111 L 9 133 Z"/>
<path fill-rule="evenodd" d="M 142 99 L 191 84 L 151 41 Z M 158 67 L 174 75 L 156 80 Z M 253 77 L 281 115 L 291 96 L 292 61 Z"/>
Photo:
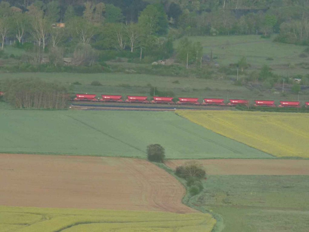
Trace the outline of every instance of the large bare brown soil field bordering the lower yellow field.
<path fill-rule="evenodd" d="M 115 157 L 0 154 L 0 205 L 197 212 L 156 165 Z"/>

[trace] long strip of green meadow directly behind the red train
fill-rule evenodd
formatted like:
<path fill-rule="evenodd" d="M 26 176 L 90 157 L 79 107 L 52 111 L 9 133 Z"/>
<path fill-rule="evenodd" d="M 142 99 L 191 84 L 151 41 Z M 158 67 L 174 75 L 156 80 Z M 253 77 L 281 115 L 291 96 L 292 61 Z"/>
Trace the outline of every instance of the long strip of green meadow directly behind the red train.
<path fill-rule="evenodd" d="M 249 99 L 259 98 L 280 100 L 308 101 L 307 95 L 288 94 L 282 97 L 272 90 L 260 90 L 258 88 L 246 88 L 235 86 L 233 81 L 227 79 L 197 79 L 184 77 L 156 76 L 147 74 L 123 74 L 123 73 L 0 73 L 0 82 L 6 78 L 33 77 L 49 82 L 61 83 L 72 93 L 121 94 L 149 96 L 149 84 L 159 91 L 172 91 L 175 97 L 205 97 Z M 99 81 L 102 86 L 90 85 L 92 81 Z M 81 85 L 72 83 L 78 81 Z M 179 81 L 179 84 L 173 83 Z M 0 83 L 1 84 L 1 83 Z M 0 86 L 1 88 L 1 86 Z"/>

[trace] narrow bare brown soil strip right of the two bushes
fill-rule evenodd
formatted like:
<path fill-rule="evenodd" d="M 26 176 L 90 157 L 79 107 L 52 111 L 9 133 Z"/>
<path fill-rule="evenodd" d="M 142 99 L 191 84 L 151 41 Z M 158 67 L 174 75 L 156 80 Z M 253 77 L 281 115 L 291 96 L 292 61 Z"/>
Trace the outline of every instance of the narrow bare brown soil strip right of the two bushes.
<path fill-rule="evenodd" d="M 172 169 L 188 160 L 169 160 Z M 197 160 L 210 175 L 309 175 L 309 160 L 210 159 Z"/>

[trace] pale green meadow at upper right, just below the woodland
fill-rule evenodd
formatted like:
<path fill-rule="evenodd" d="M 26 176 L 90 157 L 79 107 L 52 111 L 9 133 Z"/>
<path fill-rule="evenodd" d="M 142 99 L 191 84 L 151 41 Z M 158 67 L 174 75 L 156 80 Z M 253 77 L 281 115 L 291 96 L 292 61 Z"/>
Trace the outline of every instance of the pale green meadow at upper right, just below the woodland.
<path fill-rule="evenodd" d="M 213 51 L 214 60 L 220 65 L 236 63 L 243 56 L 251 64 L 251 69 L 256 69 L 264 64 L 269 65 L 274 71 L 281 75 L 307 74 L 308 70 L 293 65 L 308 62 L 308 58 L 300 58 L 299 54 L 306 48 L 292 44 L 273 42 L 275 36 L 262 39 L 260 35 L 242 36 L 209 36 L 188 37 L 192 41 L 199 41 L 204 48 L 204 54 L 210 56 Z M 175 42 L 175 47 L 177 46 Z M 267 60 L 273 58 L 273 60 Z M 287 68 L 287 64 L 291 64 Z"/>

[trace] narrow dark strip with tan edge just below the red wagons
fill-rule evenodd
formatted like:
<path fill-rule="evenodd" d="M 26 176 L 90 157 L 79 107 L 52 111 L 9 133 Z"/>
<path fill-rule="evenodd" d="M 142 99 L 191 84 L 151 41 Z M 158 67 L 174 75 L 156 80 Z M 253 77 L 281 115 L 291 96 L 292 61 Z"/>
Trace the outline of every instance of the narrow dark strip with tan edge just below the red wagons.
<path fill-rule="evenodd" d="M 175 110 L 232 110 L 226 106 L 197 106 L 197 105 L 150 105 L 128 103 L 76 103 L 71 102 L 71 109 L 76 110 L 139 110 L 139 111 L 175 111 Z"/>

